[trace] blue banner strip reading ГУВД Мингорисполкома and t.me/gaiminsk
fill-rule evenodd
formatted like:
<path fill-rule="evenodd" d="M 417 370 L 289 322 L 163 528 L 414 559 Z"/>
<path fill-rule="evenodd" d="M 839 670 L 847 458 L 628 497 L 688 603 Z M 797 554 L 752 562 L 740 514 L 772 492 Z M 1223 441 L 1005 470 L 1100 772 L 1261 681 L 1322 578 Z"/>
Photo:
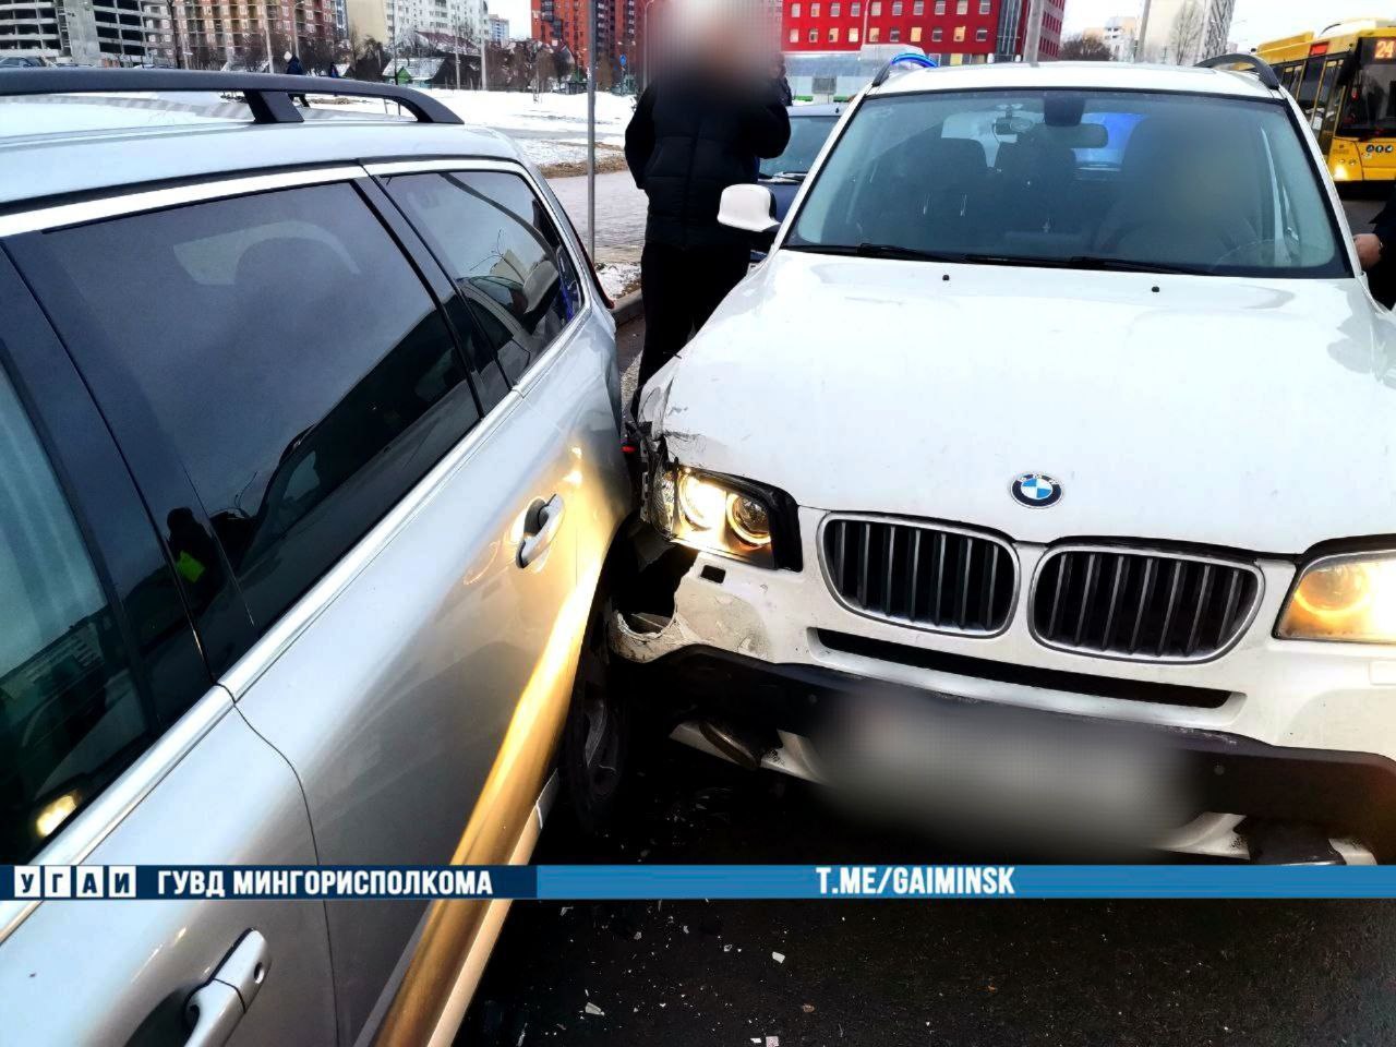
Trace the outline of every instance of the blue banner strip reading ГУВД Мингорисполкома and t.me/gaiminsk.
<path fill-rule="evenodd" d="M 1396 898 L 1386 866 L 0 866 L 0 902 Z"/>

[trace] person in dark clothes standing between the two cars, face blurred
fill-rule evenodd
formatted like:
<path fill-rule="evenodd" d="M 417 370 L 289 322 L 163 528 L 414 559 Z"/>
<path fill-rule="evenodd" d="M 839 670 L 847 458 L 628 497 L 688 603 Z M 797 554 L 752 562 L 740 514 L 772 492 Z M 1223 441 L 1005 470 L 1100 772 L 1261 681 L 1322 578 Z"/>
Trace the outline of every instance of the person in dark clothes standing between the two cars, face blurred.
<path fill-rule="evenodd" d="M 727 186 L 755 181 L 779 156 L 790 117 L 771 81 L 718 46 L 645 88 L 625 128 L 625 163 L 649 197 L 641 285 L 645 349 L 639 389 L 704 325 L 745 275 L 751 243 L 718 225 Z"/>

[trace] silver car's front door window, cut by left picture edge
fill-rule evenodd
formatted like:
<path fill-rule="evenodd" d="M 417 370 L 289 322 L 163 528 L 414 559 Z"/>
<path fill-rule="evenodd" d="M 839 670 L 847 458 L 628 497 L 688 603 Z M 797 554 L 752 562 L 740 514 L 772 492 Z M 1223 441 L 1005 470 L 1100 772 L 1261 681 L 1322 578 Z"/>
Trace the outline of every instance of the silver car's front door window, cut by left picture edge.
<path fill-rule="evenodd" d="M 0 863 L 25 861 L 155 734 L 117 616 L 0 374 Z"/>

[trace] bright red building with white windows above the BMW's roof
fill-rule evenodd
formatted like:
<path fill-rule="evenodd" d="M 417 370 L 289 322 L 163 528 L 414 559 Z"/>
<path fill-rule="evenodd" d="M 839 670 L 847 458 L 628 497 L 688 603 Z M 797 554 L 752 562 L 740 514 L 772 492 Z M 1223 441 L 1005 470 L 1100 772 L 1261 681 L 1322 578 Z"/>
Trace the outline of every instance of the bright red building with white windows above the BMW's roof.
<path fill-rule="evenodd" d="M 564 0 L 554 0 L 561 3 Z M 1023 53 L 1030 0 L 785 0 L 786 52 L 903 43 L 945 66 L 1011 61 Z M 1067 0 L 1044 0 L 1040 56 L 1055 59 Z"/>

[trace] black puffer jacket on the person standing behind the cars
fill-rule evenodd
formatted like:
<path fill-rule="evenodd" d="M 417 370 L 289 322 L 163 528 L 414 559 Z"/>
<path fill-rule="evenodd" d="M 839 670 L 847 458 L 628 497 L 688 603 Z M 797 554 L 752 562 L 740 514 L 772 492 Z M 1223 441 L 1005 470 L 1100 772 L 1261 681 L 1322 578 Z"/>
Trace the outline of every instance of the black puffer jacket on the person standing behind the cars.
<path fill-rule="evenodd" d="M 649 197 L 646 243 L 745 244 L 718 225 L 727 186 L 755 181 L 761 158 L 790 141 L 790 117 L 766 80 L 737 84 L 674 71 L 645 89 L 625 128 L 625 162 Z"/>

